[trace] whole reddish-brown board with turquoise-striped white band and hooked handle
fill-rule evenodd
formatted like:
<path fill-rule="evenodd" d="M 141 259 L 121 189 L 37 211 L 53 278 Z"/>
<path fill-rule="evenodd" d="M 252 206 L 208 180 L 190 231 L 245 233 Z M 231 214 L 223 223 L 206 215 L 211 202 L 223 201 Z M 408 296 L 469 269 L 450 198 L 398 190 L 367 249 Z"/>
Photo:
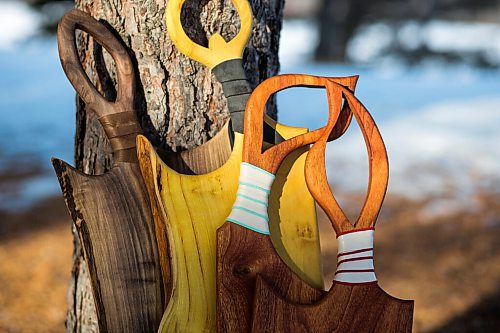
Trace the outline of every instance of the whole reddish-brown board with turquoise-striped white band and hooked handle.
<path fill-rule="evenodd" d="M 330 109 L 329 121 L 334 128 L 329 131 L 328 139 L 331 136 L 338 137 L 336 131 L 338 124 L 341 124 L 339 119 L 344 108 L 341 101 L 336 99 L 332 84 L 338 82 L 349 86 L 350 80 L 352 77 L 278 75 L 261 83 L 252 93 L 245 111 L 243 162 L 237 199 L 226 223 L 217 230 L 218 332 L 250 331 L 257 276 L 273 278 L 273 286 L 293 302 L 310 303 L 321 297 L 323 286 L 311 284 L 303 276 L 296 274 L 297 272 L 290 274 L 289 271 L 293 272 L 290 270 L 293 266 L 286 261 L 279 249 L 275 252 L 276 243 L 271 241 L 277 237 L 271 228 L 273 216 L 265 206 L 271 203 L 273 195 L 276 195 L 274 186 L 276 182 L 280 182 L 281 163 L 296 149 L 315 142 L 323 134 L 325 127 L 288 138 L 262 151 L 262 122 L 265 105 L 272 94 L 297 86 L 326 88 Z M 297 212 L 294 207 L 290 209 Z M 289 228 L 288 221 L 282 216 L 278 217 L 277 223 L 282 230 Z M 306 248 L 303 248 L 303 251 L 306 251 Z M 302 252 L 302 255 L 304 254 Z M 307 256 L 306 254 L 305 257 Z"/>

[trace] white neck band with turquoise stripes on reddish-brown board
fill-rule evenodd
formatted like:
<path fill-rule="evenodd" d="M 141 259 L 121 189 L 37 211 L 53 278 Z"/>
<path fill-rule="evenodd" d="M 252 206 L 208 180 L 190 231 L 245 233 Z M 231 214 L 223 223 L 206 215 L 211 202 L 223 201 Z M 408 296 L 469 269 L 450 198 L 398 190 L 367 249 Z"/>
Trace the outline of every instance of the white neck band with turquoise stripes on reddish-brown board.
<path fill-rule="evenodd" d="M 242 162 L 236 201 L 227 220 L 268 235 L 267 205 L 274 178 L 272 173 Z"/>

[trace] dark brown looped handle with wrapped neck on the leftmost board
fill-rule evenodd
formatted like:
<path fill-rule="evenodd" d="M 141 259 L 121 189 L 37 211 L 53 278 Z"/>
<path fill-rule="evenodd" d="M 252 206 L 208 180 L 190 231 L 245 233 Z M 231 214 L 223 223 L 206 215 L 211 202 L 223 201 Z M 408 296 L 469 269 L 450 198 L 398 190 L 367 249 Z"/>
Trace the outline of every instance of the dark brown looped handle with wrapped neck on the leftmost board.
<path fill-rule="evenodd" d="M 118 77 L 116 101 L 109 101 L 99 93 L 85 73 L 76 46 L 77 29 L 92 36 L 113 57 Z M 111 142 L 115 161 L 137 163 L 135 137 L 142 129 L 134 108 L 136 82 L 129 54 L 108 28 L 77 9 L 61 18 L 57 37 L 64 72 L 87 108 L 97 115 Z"/>

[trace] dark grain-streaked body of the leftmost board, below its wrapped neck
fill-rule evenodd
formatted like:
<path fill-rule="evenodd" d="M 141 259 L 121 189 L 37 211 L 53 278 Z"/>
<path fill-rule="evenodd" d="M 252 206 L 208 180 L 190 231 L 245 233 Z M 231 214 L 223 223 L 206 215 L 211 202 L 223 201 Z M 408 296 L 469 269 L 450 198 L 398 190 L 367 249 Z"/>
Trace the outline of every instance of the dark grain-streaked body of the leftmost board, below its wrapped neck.
<path fill-rule="evenodd" d="M 90 271 L 101 332 L 154 332 L 163 315 L 162 274 L 139 166 L 100 176 L 54 159 Z"/>

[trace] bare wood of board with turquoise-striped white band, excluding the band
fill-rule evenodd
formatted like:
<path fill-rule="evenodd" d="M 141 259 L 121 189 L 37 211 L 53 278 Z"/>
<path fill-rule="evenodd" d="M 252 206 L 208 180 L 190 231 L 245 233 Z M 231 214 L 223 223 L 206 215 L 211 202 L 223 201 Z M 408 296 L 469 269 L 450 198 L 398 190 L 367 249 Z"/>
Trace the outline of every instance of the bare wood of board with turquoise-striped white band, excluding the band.
<path fill-rule="evenodd" d="M 274 145 L 262 152 L 262 122 L 267 99 L 273 93 L 292 86 L 326 87 L 330 109 L 330 131 L 338 125 L 342 109 L 340 86 L 356 78 L 324 78 L 308 75 L 282 75 L 264 81 L 251 95 L 245 112 L 243 161 L 276 173 L 283 159 L 293 150 L 313 143 L 325 128 Z M 217 330 L 248 332 L 252 325 L 252 304 L 257 276 L 266 278 L 273 290 L 291 302 L 309 304 L 322 291 L 300 279 L 276 253 L 268 235 L 226 222 L 217 230 Z"/>

